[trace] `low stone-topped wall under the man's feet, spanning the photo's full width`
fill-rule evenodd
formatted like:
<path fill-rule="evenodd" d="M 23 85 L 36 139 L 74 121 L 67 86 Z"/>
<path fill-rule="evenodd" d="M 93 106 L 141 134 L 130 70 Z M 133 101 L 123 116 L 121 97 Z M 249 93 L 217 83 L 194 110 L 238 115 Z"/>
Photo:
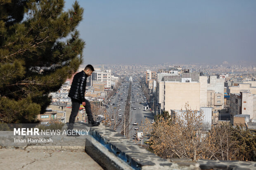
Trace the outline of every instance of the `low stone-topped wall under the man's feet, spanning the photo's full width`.
<path fill-rule="evenodd" d="M 66 125 L 63 128 L 66 128 Z M 103 125 L 88 127 L 87 123 L 76 123 L 74 129 L 88 129 L 90 135 L 86 137 L 62 136 L 58 138 L 58 140 L 62 141 L 62 146 L 59 146 L 60 143 L 58 142 L 51 146 L 45 144 L 10 146 L 7 141 L 13 140 L 13 132 L 0 131 L 0 149 L 85 151 L 106 170 L 256 169 L 256 162 L 249 161 L 163 159 Z M 54 139 L 54 136 L 52 138 Z"/>

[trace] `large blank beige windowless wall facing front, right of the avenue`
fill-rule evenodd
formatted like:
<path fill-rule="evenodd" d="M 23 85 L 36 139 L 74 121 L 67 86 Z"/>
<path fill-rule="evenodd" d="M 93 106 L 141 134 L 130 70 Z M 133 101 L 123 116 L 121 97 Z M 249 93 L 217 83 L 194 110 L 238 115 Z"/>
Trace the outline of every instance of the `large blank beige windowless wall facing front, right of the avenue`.
<path fill-rule="evenodd" d="M 188 102 L 192 110 L 200 109 L 200 83 L 165 82 L 164 109 L 184 109 Z"/>

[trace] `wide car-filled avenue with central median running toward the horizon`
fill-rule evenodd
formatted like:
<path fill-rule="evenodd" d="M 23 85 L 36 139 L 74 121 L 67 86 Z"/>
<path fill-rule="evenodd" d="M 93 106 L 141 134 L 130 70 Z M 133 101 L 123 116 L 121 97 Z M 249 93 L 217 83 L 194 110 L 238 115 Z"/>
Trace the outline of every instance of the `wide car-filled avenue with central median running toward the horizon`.
<path fill-rule="evenodd" d="M 151 122 L 154 119 L 154 115 L 150 110 L 145 111 L 145 106 L 147 106 L 147 103 L 144 102 L 145 100 L 143 97 L 143 91 L 139 87 L 139 83 L 137 82 L 132 83 L 130 101 L 127 101 L 129 84 L 130 84 L 129 82 L 125 82 L 120 86 L 117 93 L 113 96 L 114 98 L 112 98 L 112 101 L 110 101 L 110 104 L 113 103 L 114 105 L 109 105 L 109 108 L 107 108 L 107 112 L 111 116 L 110 119 L 112 119 L 112 122 L 113 122 L 111 123 L 112 124 L 111 127 L 113 128 L 114 124 L 117 123 L 116 131 L 121 133 L 121 128 L 124 122 L 124 111 L 126 107 L 126 102 L 132 101 L 130 102 L 128 137 L 130 139 L 133 139 L 134 133 L 141 132 L 140 127 L 142 126 L 141 124 L 142 120 L 143 122 L 145 122 L 145 119 L 149 119 L 149 122 Z M 123 100 L 121 100 L 122 98 Z M 117 106 L 117 104 L 119 104 L 118 102 L 120 102 L 120 106 Z M 116 109 L 114 109 L 115 107 Z M 137 125 L 133 125 L 134 122 L 137 122 Z M 138 130 L 135 130 L 136 126 L 138 127 Z"/>

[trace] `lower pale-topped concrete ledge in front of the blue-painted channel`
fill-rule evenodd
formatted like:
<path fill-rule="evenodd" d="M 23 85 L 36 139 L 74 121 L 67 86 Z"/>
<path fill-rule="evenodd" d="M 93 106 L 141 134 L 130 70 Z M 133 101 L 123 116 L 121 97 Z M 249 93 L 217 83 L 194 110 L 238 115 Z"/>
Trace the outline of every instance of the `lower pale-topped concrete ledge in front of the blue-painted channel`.
<path fill-rule="evenodd" d="M 106 147 L 93 138 L 92 140 L 86 139 L 85 152 L 105 170 L 133 170 L 133 168 L 109 152 Z"/>

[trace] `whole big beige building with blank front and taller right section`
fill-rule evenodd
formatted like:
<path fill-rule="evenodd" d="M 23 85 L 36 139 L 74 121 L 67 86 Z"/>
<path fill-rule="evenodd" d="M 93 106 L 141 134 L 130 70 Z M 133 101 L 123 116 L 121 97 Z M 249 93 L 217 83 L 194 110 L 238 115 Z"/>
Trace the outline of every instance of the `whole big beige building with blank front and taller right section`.
<path fill-rule="evenodd" d="M 206 76 L 200 76 L 199 82 L 159 81 L 158 101 L 161 104 L 161 109 L 169 112 L 171 109 L 185 109 L 186 103 L 189 104 L 192 110 L 206 107 L 206 96 Z"/>

